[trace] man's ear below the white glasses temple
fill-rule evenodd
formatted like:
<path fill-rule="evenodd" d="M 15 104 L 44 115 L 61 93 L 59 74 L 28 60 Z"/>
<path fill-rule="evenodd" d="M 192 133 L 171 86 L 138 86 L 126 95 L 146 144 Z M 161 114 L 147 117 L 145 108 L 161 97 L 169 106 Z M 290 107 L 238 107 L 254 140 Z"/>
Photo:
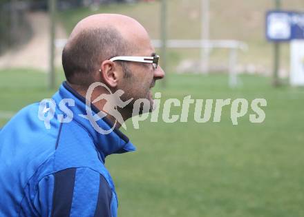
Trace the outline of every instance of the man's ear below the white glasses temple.
<path fill-rule="evenodd" d="M 113 61 L 103 61 L 99 70 L 100 76 L 109 87 L 116 87 L 119 79 L 117 65 Z"/>

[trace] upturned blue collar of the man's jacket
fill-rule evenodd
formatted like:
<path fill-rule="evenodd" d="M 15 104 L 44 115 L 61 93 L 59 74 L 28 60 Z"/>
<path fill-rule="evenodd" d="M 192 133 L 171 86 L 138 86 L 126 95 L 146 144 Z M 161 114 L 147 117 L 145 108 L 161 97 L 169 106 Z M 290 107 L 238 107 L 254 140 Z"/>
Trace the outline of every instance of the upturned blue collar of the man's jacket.
<path fill-rule="evenodd" d="M 110 154 L 122 154 L 135 151 L 135 147 L 129 141 L 129 138 L 117 128 L 114 128 L 109 134 L 100 134 L 94 129 L 88 119 L 79 116 L 86 115 L 86 99 L 73 90 L 66 81 L 59 87 L 59 91 L 53 96 L 53 99 L 57 105 L 59 105 L 59 102 L 62 99 L 73 99 L 75 101 L 75 106 L 68 107 L 68 109 L 73 112 L 73 121 L 77 121 L 77 123 L 82 125 L 82 127 L 91 135 L 103 162 L 104 158 Z M 97 107 L 93 104 L 91 104 L 91 110 L 93 115 L 99 112 Z M 106 117 L 100 119 L 96 123 L 103 130 L 110 130 L 111 127 L 113 127 L 113 123 Z"/>

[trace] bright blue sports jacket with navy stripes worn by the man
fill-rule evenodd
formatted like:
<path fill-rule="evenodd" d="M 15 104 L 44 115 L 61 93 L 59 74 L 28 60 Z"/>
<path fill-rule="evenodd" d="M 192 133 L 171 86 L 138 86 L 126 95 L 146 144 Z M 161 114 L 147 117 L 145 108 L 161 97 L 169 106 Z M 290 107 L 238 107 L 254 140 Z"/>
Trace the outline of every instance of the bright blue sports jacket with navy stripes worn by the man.
<path fill-rule="evenodd" d="M 60 123 L 61 99 L 73 99 L 73 121 Z M 134 151 L 115 129 L 99 134 L 88 119 L 84 97 L 63 83 L 53 96 L 50 129 L 39 120 L 39 103 L 18 112 L 0 131 L 0 217 L 117 216 L 117 196 L 104 159 Z M 92 106 L 93 114 L 99 111 Z M 97 121 L 104 130 L 111 123 Z"/>

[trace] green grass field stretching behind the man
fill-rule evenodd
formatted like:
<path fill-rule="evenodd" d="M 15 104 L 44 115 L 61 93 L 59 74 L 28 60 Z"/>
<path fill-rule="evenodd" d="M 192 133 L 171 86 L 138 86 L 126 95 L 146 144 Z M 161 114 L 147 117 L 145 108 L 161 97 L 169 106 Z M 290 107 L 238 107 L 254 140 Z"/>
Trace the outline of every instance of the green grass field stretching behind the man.
<path fill-rule="evenodd" d="M 59 81 L 63 79 L 59 76 Z M 119 197 L 119 216 L 304 216 L 303 88 L 274 89 L 270 80 L 241 76 L 231 90 L 225 75 L 170 74 L 162 100 L 265 98 L 264 123 L 249 114 L 232 125 L 230 107 L 220 123 L 128 121 L 126 134 L 137 152 L 107 158 Z M 0 71 L 0 111 L 52 96 L 46 75 Z M 155 91 L 156 91 L 155 90 Z M 162 101 L 162 102 L 163 102 Z M 250 111 L 250 110 L 249 110 Z M 180 114 L 180 109 L 172 114 Z M 1 119 L 0 125 L 6 123 Z"/>

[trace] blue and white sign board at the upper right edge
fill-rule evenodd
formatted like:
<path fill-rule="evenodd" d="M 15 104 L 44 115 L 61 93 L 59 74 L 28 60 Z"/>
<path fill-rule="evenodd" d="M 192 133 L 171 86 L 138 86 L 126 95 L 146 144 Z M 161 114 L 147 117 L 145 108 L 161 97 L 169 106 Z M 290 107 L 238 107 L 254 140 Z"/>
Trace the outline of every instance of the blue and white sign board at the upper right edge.
<path fill-rule="evenodd" d="M 266 16 L 268 41 L 304 40 L 304 13 L 269 11 Z"/>

